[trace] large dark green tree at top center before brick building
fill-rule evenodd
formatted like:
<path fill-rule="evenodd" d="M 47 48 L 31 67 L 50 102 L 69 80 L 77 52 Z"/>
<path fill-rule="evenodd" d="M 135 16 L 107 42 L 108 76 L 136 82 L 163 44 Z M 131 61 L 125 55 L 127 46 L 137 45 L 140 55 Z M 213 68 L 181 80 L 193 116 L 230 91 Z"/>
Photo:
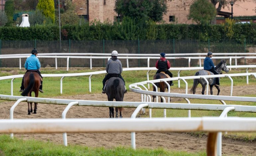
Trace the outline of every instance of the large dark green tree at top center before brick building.
<path fill-rule="evenodd" d="M 136 20 L 161 21 L 166 13 L 166 0 L 116 0 L 115 12 L 122 18 L 124 16 Z"/>

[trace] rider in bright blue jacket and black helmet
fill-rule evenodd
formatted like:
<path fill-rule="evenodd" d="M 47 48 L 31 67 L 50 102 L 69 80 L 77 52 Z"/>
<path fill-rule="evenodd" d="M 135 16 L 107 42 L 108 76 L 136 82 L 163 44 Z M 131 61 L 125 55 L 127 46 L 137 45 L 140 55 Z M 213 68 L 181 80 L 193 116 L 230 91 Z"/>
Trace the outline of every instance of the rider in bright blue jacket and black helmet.
<path fill-rule="evenodd" d="M 37 72 L 39 74 L 39 76 L 42 78 L 43 80 L 43 77 L 39 71 L 40 67 L 41 67 L 41 64 L 40 64 L 40 61 L 39 59 L 37 58 L 37 54 L 38 54 L 38 50 L 36 48 L 34 48 L 32 51 L 31 51 L 31 56 L 29 56 L 27 59 L 26 59 L 26 62 L 25 62 L 25 69 L 27 70 L 27 72 Z M 21 83 L 21 87 L 20 87 L 20 91 L 19 92 L 23 92 L 24 91 L 24 77 L 22 78 L 22 83 Z M 41 86 L 39 87 L 39 91 L 41 93 L 44 93 L 43 91 L 43 81 L 41 81 Z"/>

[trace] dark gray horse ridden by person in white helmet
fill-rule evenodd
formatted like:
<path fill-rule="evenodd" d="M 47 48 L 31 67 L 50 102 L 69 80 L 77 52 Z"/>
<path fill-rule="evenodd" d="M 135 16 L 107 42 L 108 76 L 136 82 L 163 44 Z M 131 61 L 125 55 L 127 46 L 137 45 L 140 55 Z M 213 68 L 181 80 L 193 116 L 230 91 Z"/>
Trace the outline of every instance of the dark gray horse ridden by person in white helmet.
<path fill-rule="evenodd" d="M 105 92 L 108 96 L 108 101 L 123 101 L 124 99 L 124 81 L 119 77 L 111 77 L 108 79 L 105 85 Z M 118 110 L 120 112 L 120 117 L 122 117 L 121 107 L 116 107 L 116 117 L 118 117 Z M 109 117 L 114 117 L 114 107 L 109 107 Z"/>

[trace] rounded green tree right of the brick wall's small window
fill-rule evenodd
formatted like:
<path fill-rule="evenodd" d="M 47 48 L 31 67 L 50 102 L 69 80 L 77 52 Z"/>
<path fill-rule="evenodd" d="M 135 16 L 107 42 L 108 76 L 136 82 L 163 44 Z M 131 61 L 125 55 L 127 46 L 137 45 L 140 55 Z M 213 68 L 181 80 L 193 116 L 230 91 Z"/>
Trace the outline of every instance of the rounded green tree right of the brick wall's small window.
<path fill-rule="evenodd" d="M 216 9 L 208 0 L 196 0 L 190 6 L 188 19 L 197 24 L 209 24 L 216 17 Z"/>

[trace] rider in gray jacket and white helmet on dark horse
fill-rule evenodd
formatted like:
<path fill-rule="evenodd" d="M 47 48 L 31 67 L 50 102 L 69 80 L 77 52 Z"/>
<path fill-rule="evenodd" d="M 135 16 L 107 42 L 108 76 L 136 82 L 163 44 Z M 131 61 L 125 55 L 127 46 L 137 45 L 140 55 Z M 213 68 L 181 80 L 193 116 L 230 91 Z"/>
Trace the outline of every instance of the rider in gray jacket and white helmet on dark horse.
<path fill-rule="evenodd" d="M 111 77 L 119 77 L 124 81 L 124 79 L 121 75 L 121 73 L 123 71 L 122 63 L 119 59 L 117 59 L 117 56 L 118 56 L 118 52 L 116 50 L 112 51 L 111 58 L 107 62 L 107 65 L 106 65 L 107 74 L 105 75 L 105 78 L 102 80 L 102 83 L 103 83 L 102 93 L 103 94 L 106 93 L 104 90 L 105 83 Z M 124 93 L 127 93 L 127 89 L 125 87 L 125 81 L 124 81 L 124 88 L 125 88 Z"/>

